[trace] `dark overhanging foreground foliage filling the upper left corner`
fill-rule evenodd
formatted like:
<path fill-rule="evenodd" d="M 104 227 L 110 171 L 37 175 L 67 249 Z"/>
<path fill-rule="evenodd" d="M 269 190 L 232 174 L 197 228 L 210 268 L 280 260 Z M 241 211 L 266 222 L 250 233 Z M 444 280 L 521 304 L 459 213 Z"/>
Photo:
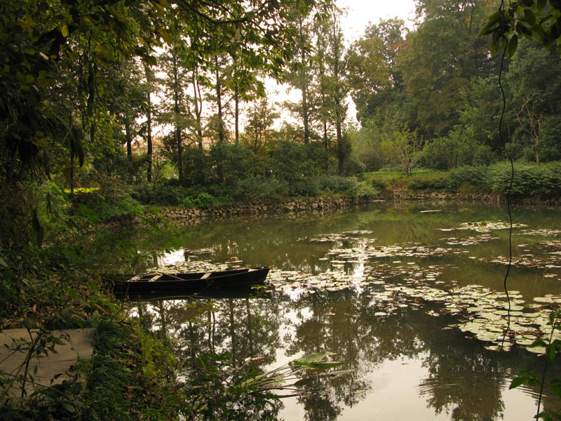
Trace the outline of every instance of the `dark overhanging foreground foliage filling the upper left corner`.
<path fill-rule="evenodd" d="M 306 2 L 309 10 L 326 13 L 330 0 Z M 234 0 L 200 2 L 194 0 L 99 0 L 55 3 L 22 0 L 0 5 L 1 70 L 0 149 L 5 180 L 22 174 L 38 174 L 46 167 L 46 152 L 57 148 L 57 140 L 72 135 L 67 114 L 57 114 L 46 97 L 60 80 L 62 67 L 79 58 L 76 46 L 90 42 L 92 77 L 88 102 L 92 115 L 89 131 L 97 133 L 97 119 L 107 116 L 102 102 L 95 101 L 101 79 L 97 70 L 119 57 L 134 55 L 154 64 L 155 46 L 172 42 L 165 20 L 175 16 L 183 22 L 182 35 L 189 41 L 194 58 L 215 52 L 210 39 L 216 32 L 224 42 L 238 31 L 244 40 L 241 55 L 253 67 L 280 75 L 295 34 L 289 27 L 288 5 L 282 0 L 241 3 Z M 92 35 L 89 37 L 89 35 Z M 121 53 L 121 56 L 115 52 Z M 95 113 L 95 115 L 93 115 Z M 89 141 L 90 141 L 89 140 Z"/>

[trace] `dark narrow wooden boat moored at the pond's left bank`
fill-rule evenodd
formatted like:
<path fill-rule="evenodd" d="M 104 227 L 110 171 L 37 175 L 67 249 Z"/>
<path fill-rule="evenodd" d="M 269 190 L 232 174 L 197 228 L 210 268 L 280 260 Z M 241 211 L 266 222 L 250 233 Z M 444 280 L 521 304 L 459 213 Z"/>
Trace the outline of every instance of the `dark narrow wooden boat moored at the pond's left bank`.
<path fill-rule="evenodd" d="M 179 274 L 147 274 L 133 276 L 128 280 L 114 280 L 116 293 L 201 293 L 210 289 L 239 288 L 262 283 L 269 267 L 246 267 L 218 272 L 193 272 Z"/>

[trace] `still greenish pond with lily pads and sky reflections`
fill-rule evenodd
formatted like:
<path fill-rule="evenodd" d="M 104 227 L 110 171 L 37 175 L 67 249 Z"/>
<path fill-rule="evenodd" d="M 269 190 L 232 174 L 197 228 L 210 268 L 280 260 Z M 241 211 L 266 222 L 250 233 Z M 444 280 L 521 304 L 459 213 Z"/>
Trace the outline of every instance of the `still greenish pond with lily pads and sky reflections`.
<path fill-rule="evenodd" d="M 507 218 L 503 207 L 384 202 L 198 225 L 160 269 L 269 265 L 266 293 L 131 312 L 173 338 L 188 369 L 224 352 L 259 370 L 318 352 L 342 363 L 344 374 L 313 377 L 271 419 L 531 420 L 539 386 L 508 386 L 520 370 L 543 370 L 543 349 L 527 345 L 561 303 L 561 218 L 513 209 L 509 300 Z M 556 366 L 548 375 L 560 377 Z M 546 393 L 542 405 L 560 401 Z"/>

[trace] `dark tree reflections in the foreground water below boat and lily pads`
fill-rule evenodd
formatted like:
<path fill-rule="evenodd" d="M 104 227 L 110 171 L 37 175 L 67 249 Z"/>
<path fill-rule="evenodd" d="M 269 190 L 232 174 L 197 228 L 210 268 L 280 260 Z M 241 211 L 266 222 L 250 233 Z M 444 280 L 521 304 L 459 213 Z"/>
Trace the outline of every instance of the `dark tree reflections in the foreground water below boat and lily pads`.
<path fill-rule="evenodd" d="M 343 362 L 342 369 L 354 371 L 313 378 L 311 388 L 321 392 L 303 394 L 297 402 L 306 420 L 314 421 L 344 419 L 346 408 L 373 393 L 372 374 L 384 363 L 403 358 L 421 361 L 426 369 L 417 392 L 433 416 L 499 420 L 505 410 L 503 391 L 511 378 L 520 368 L 537 370 L 541 364 L 523 350 L 500 354 L 485 349 L 478 340 L 447 328 L 450 320 L 445 316 L 426 314 L 428 307 L 396 307 L 379 316 L 373 288 L 304 294 L 295 300 L 274 295 L 158 301 L 138 305 L 137 314 L 156 335 L 173 338 L 187 376 L 203 373 L 201 361 L 224 363 L 201 359 L 213 354 L 227 356 L 229 365 L 244 370 L 270 370 L 302 354 L 334 353 L 334 359 Z M 245 373 L 238 370 L 236 375 L 241 378 Z M 548 399 L 546 407 L 554 408 L 555 401 Z M 533 399 L 527 399 L 527 405 L 533 404 Z M 248 420 L 274 420 L 279 410 L 279 406 L 259 408 L 249 402 L 238 402 L 236 408 L 237 419 Z M 375 410 L 370 408 L 365 417 L 373 419 Z M 203 419 L 217 419 L 220 412 L 215 408 L 205 414 Z"/>

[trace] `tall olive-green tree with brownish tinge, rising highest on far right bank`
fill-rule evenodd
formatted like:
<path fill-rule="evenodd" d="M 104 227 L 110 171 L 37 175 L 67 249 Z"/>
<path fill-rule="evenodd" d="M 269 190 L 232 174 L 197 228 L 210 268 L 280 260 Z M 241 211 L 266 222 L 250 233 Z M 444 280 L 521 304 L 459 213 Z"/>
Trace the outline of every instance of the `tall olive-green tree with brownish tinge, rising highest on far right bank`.
<path fill-rule="evenodd" d="M 496 3 L 496 2 L 491 2 Z M 474 76 L 497 68 L 487 41 L 478 37 L 486 0 L 419 0 L 417 31 L 407 36 L 398 63 L 417 106 L 424 133 L 446 133 L 459 119 L 461 95 Z"/>

